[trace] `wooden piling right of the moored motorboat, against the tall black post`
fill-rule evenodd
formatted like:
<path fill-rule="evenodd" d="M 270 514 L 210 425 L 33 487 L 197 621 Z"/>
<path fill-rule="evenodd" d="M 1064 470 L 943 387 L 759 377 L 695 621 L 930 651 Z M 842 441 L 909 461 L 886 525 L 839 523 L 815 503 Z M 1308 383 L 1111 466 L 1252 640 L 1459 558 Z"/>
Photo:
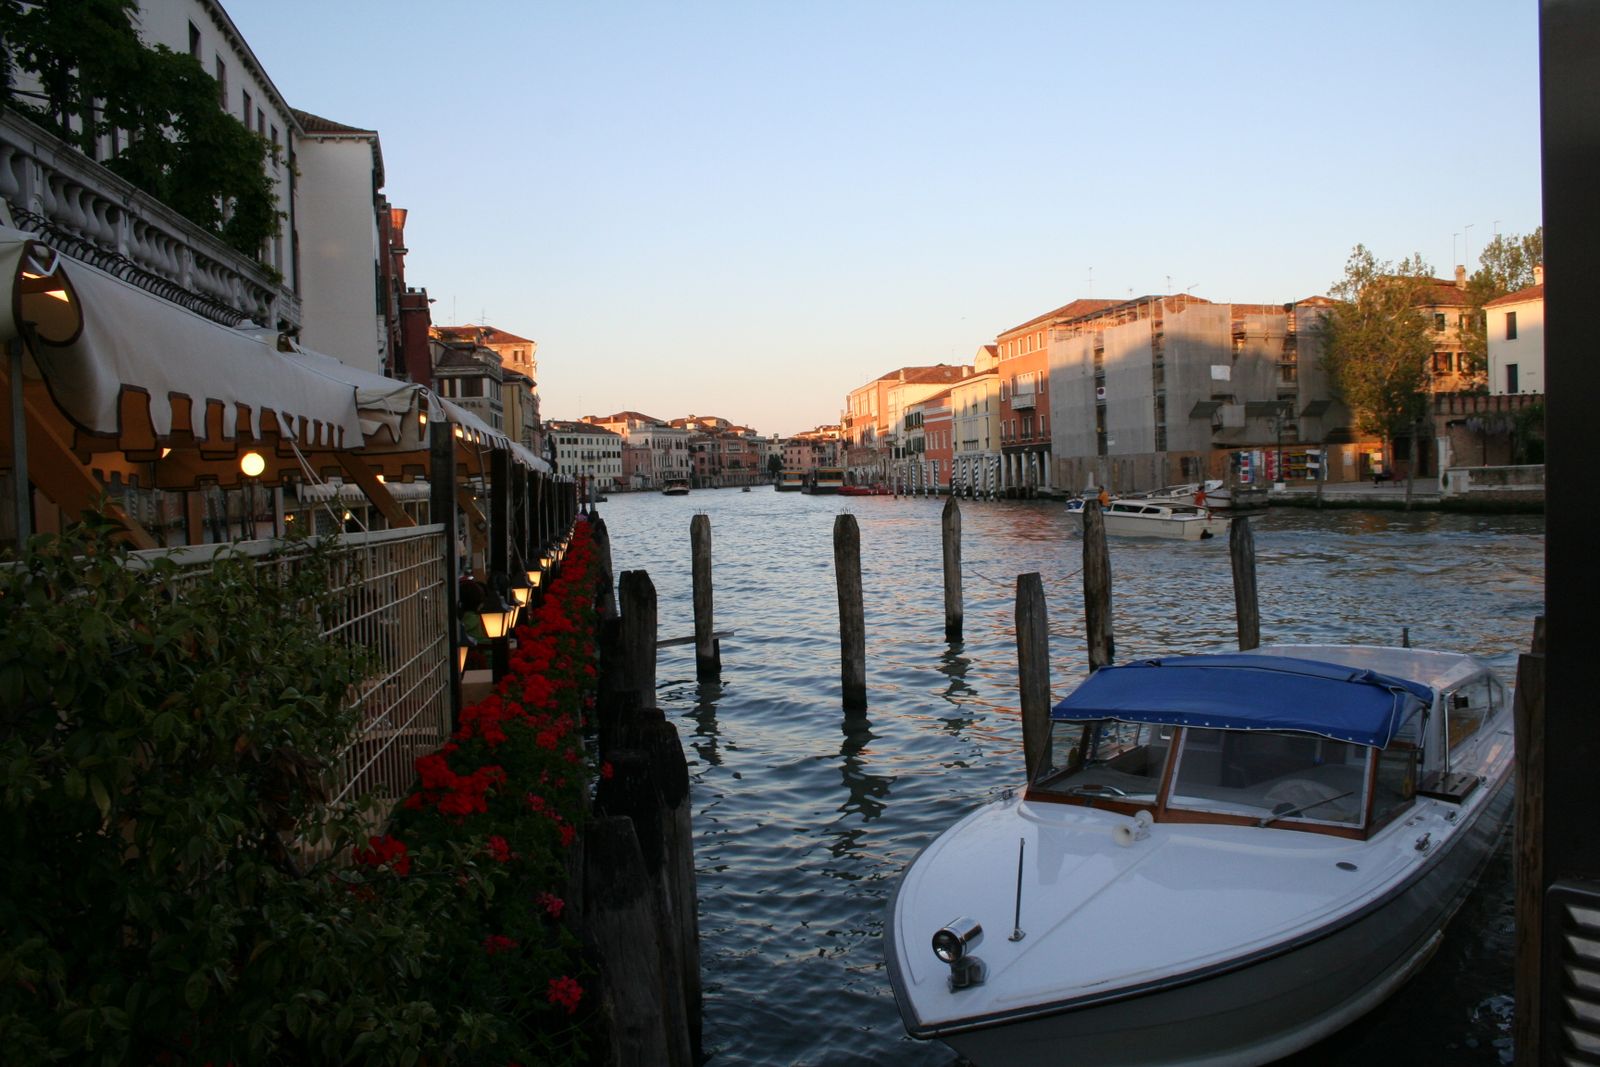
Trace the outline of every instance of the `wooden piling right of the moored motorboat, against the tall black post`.
<path fill-rule="evenodd" d="M 1512 881 L 1517 886 L 1517 945 L 1512 974 L 1517 1005 L 1512 1048 L 1517 1062 L 1541 1062 L 1542 907 L 1544 907 L 1544 616 L 1533 624 L 1533 649 L 1517 659 L 1512 699 L 1517 745 L 1517 830 Z"/>

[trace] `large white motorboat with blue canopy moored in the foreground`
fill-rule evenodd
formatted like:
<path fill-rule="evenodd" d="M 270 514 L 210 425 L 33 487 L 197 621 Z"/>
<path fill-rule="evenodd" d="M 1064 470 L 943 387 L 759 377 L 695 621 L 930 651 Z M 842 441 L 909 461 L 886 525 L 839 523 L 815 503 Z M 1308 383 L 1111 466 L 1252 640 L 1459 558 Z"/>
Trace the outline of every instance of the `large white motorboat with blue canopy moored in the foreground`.
<path fill-rule="evenodd" d="M 890 905 L 907 1032 L 979 1067 L 1306 1048 L 1430 957 L 1507 824 L 1509 699 L 1470 656 L 1171 656 L 1051 718 L 1034 781 Z"/>

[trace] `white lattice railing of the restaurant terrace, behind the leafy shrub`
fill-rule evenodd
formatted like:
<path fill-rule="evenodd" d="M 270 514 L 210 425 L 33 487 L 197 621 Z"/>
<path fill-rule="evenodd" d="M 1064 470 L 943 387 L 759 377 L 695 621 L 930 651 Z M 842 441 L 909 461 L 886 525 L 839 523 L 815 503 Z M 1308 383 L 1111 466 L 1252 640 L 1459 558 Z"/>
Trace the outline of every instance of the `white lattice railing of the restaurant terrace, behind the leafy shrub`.
<path fill-rule="evenodd" d="M 203 571 L 218 552 L 253 557 L 261 566 L 294 566 L 282 541 L 243 541 L 134 552 L 165 557 Z M 333 800 L 378 797 L 392 805 L 416 781 L 416 758 L 450 737 L 450 672 L 454 670 L 446 597 L 445 528 L 408 526 L 341 537 L 330 576 L 338 608 L 323 619 L 323 637 L 366 648 L 373 665 L 352 691 L 360 729 L 331 769 Z M 299 553 L 302 555 L 302 553 Z"/>

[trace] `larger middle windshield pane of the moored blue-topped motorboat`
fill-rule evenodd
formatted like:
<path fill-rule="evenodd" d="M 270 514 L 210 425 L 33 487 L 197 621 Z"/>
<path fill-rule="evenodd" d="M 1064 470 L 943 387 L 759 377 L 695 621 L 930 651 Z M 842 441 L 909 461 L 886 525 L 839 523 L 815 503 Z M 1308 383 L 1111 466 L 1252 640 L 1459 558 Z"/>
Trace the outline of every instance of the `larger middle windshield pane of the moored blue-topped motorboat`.
<path fill-rule="evenodd" d="M 1360 825 L 1371 749 L 1275 729 L 1186 729 L 1170 808 Z"/>

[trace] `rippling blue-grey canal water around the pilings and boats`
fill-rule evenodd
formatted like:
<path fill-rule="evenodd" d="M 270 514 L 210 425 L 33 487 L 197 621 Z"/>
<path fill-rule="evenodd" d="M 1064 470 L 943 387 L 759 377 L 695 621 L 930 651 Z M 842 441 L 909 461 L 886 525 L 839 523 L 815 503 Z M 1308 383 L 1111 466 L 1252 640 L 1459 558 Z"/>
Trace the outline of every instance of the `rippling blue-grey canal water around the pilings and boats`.
<path fill-rule="evenodd" d="M 1037 571 L 1051 693 L 1086 670 L 1082 541 L 1056 502 L 963 502 L 965 640 L 944 640 L 931 498 L 757 488 L 616 494 L 598 507 L 618 574 L 645 569 L 662 638 L 694 632 L 690 522 L 712 528 L 722 678 L 661 649 L 658 701 L 685 742 L 714 1065 L 930 1064 L 883 963 L 901 870 L 1022 773 L 1016 576 Z M 861 526 L 866 713 L 842 710 L 834 518 Z M 1544 603 L 1541 517 L 1278 509 L 1253 520 L 1262 641 L 1469 651 L 1510 683 Z M 1237 646 L 1227 539 L 1114 537 L 1118 659 Z M 1510 1062 L 1512 886 L 1502 848 L 1429 969 L 1285 1064 Z M 1066 1061 L 1070 1062 L 1070 1061 Z"/>

